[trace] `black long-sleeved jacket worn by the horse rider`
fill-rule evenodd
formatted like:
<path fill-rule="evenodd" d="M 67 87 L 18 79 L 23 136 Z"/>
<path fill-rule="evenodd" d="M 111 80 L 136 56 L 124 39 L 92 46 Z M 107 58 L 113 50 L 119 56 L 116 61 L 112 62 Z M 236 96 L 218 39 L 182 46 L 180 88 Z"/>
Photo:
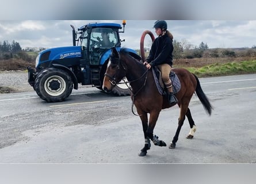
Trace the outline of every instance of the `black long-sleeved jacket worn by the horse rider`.
<path fill-rule="evenodd" d="M 154 40 L 147 62 L 151 66 L 158 66 L 164 63 L 170 64 L 170 66 L 173 65 L 173 40 L 167 34 Z"/>

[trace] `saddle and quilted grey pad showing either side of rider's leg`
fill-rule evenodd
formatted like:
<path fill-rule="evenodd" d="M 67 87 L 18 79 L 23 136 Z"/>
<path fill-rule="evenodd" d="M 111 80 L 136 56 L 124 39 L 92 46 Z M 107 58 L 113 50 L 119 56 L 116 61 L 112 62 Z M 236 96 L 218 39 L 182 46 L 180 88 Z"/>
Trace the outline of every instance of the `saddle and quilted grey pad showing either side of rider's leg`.
<path fill-rule="evenodd" d="M 161 77 L 161 71 L 158 69 L 158 67 L 152 67 L 152 73 L 153 73 L 153 76 L 154 76 L 154 81 L 155 81 L 156 87 L 158 89 L 158 92 L 161 95 L 165 95 L 166 94 L 166 90 L 165 90 L 166 88 L 165 88 L 165 85 L 164 85 L 162 77 Z M 171 83 L 173 83 L 173 94 L 176 94 L 181 89 L 181 82 L 179 82 L 179 78 L 175 74 L 174 71 L 170 72 L 169 77 L 171 79 Z"/>

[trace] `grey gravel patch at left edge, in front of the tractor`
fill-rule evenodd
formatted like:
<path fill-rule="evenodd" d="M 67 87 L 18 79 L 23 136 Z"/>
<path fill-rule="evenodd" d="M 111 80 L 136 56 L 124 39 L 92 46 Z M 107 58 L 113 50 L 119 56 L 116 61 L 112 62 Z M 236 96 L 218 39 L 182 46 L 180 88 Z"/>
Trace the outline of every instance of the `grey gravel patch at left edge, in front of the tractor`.
<path fill-rule="evenodd" d="M 28 71 L 0 71 L 0 93 L 33 91 L 28 83 Z"/>

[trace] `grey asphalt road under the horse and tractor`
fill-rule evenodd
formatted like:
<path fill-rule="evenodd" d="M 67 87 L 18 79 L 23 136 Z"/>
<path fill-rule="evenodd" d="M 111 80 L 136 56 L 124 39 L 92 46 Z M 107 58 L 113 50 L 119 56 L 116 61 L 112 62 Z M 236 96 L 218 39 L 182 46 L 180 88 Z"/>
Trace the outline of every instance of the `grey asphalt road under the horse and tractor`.
<path fill-rule="evenodd" d="M 201 78 L 214 110 L 208 116 L 196 95 L 190 110 L 197 126 L 177 147 L 152 144 L 147 156 L 130 97 L 93 87 L 74 90 L 60 103 L 35 92 L 0 94 L 0 163 L 256 163 L 256 74 Z M 154 133 L 167 144 L 177 128 L 178 106 L 163 110 Z"/>

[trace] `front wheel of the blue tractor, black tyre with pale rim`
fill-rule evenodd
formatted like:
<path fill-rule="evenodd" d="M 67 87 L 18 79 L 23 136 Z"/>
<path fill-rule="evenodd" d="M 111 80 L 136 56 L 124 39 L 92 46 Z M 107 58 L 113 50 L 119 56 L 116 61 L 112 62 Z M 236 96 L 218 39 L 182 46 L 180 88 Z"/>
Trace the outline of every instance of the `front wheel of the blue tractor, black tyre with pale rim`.
<path fill-rule="evenodd" d="M 73 83 L 67 72 L 48 68 L 43 70 L 35 80 L 35 90 L 41 99 L 47 102 L 62 102 L 72 92 Z"/>

